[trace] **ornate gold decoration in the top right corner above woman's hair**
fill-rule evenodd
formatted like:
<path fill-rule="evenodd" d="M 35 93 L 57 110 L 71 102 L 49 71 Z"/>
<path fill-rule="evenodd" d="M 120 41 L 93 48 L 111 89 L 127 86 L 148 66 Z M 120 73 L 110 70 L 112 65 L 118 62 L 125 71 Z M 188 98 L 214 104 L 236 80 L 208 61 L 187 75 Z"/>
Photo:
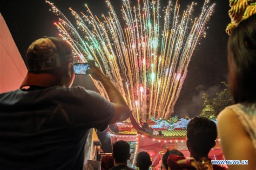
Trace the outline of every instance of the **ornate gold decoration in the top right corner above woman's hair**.
<path fill-rule="evenodd" d="M 249 16 L 256 14 L 256 0 L 229 0 L 229 17 L 231 23 L 227 26 L 226 32 L 230 35 L 231 31 L 238 26 L 238 24 L 249 18 Z"/>

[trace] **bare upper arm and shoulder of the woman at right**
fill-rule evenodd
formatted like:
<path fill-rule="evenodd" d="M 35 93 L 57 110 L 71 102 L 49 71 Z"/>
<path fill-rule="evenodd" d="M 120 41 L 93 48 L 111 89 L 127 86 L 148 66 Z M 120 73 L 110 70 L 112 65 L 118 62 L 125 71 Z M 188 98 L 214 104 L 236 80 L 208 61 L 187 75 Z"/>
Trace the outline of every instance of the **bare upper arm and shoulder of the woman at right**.
<path fill-rule="evenodd" d="M 218 133 L 226 160 L 248 160 L 248 165 L 229 165 L 229 170 L 255 170 L 256 152 L 239 118 L 230 109 L 218 116 Z"/>

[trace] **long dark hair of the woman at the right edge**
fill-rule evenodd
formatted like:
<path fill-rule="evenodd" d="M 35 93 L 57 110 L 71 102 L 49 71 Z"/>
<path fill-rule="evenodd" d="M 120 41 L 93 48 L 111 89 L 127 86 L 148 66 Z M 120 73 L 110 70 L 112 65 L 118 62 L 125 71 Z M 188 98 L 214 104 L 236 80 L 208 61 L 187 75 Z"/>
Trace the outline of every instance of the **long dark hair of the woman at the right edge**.
<path fill-rule="evenodd" d="M 228 42 L 229 88 L 235 103 L 256 100 L 256 14 L 232 31 Z"/>

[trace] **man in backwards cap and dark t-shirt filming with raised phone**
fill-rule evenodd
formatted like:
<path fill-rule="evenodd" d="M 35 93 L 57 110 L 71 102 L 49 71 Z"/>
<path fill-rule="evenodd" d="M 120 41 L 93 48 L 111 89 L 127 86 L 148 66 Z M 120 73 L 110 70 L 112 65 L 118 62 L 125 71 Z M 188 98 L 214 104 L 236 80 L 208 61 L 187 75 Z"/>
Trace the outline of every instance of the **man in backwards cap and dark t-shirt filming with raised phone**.
<path fill-rule="evenodd" d="M 88 73 L 109 100 L 74 81 L 73 55 L 56 37 L 34 41 L 27 50 L 28 73 L 20 89 L 0 94 L 1 170 L 82 170 L 88 130 L 104 131 L 131 111 L 121 93 L 89 61 Z"/>

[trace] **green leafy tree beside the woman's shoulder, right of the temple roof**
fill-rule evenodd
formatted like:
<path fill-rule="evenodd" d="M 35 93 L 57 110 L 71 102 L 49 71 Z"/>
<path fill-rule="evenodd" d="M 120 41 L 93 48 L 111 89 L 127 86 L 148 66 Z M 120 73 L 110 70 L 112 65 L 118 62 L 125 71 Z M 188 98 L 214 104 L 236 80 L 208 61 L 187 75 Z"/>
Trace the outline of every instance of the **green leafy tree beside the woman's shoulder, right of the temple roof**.
<path fill-rule="evenodd" d="M 231 94 L 229 92 L 228 83 L 222 81 L 225 85 L 225 89 L 222 92 L 216 93 L 216 98 L 210 98 L 208 94 L 203 93 L 202 98 L 204 98 L 203 110 L 200 116 L 206 118 L 217 118 L 218 114 L 227 106 L 233 104 Z"/>

